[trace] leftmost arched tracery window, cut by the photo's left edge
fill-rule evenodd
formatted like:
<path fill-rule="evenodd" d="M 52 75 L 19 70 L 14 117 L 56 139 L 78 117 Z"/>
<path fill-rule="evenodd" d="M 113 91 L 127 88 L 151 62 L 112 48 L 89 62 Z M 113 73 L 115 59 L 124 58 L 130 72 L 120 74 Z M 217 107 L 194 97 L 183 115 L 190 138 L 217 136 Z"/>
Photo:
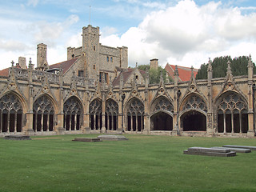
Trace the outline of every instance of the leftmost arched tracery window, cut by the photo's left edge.
<path fill-rule="evenodd" d="M 22 131 L 22 105 L 14 94 L 0 99 L 0 133 Z"/>

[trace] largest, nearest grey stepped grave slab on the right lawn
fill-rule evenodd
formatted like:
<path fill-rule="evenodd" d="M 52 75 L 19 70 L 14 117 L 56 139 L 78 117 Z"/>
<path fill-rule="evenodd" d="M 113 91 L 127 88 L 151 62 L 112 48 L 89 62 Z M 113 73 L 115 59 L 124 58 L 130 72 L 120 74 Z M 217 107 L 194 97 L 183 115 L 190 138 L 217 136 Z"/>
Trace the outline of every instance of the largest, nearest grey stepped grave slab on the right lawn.
<path fill-rule="evenodd" d="M 207 147 L 190 147 L 188 150 L 184 150 L 183 154 L 196 154 L 196 155 L 206 155 L 206 156 L 217 156 L 217 157 L 233 157 L 236 155 L 235 151 L 230 151 L 227 149 L 215 149 Z"/>

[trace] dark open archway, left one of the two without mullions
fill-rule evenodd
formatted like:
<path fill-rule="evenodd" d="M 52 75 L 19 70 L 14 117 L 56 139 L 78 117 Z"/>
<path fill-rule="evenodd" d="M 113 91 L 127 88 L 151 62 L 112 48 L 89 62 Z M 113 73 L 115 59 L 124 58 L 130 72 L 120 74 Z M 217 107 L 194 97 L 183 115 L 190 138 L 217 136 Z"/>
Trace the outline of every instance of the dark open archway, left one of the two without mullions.
<path fill-rule="evenodd" d="M 153 114 L 150 118 L 151 130 L 173 130 L 173 118 L 165 112 Z"/>

